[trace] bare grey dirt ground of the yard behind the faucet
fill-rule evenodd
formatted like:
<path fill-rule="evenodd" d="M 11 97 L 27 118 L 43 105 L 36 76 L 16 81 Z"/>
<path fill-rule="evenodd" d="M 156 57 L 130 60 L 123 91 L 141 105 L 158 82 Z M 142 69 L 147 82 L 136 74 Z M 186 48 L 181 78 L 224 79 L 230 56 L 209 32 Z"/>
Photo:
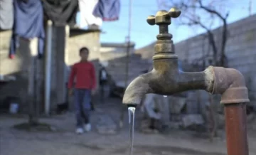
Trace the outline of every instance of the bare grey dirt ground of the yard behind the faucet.
<path fill-rule="evenodd" d="M 55 132 L 26 132 L 14 129 L 14 124 L 27 121 L 24 115 L 0 115 L 1 155 L 121 155 L 128 154 L 128 124 L 116 134 L 98 134 L 96 124 L 102 114 L 118 122 L 119 103 L 98 105 L 92 112 L 92 132 L 74 133 L 73 113 L 41 118 L 55 127 Z M 127 120 L 127 117 L 125 118 Z M 138 121 L 135 123 L 139 123 Z M 256 122 L 249 124 L 250 155 L 256 155 Z M 225 155 L 225 137 L 208 139 L 194 132 L 172 130 L 166 134 L 134 134 L 134 155 Z"/>

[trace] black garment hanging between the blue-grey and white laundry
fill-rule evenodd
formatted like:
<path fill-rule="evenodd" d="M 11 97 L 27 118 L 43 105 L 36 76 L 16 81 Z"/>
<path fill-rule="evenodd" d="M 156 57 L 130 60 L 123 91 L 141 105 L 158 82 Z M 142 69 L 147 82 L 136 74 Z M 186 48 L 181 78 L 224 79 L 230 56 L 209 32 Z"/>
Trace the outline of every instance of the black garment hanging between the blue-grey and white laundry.
<path fill-rule="evenodd" d="M 55 26 L 75 25 L 78 0 L 42 0 L 46 17 Z"/>

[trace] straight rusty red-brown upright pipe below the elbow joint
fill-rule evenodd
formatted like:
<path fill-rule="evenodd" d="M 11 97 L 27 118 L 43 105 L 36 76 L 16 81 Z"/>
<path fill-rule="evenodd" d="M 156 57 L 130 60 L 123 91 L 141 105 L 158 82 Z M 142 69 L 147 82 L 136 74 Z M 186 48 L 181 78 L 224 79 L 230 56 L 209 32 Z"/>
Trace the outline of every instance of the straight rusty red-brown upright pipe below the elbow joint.
<path fill-rule="evenodd" d="M 225 105 L 228 155 L 248 155 L 246 104 Z"/>

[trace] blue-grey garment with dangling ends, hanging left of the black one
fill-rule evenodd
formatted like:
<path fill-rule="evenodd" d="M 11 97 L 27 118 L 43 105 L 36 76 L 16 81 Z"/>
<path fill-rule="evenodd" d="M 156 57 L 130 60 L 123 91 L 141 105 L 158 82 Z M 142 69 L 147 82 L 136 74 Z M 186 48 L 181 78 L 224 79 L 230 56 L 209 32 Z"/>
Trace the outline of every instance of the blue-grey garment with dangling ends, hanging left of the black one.
<path fill-rule="evenodd" d="M 14 28 L 9 51 L 10 58 L 14 58 L 19 37 L 38 38 L 38 56 L 43 55 L 45 31 L 41 1 L 14 0 Z"/>

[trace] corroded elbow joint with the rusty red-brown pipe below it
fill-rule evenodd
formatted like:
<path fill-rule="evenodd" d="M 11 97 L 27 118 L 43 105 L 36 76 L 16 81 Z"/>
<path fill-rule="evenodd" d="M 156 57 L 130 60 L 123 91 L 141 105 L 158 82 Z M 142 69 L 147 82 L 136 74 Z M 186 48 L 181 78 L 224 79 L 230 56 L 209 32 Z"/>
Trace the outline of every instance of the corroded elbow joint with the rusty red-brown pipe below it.
<path fill-rule="evenodd" d="M 221 94 L 225 108 L 228 155 L 248 155 L 246 103 L 247 87 L 242 74 L 232 68 L 213 67 L 213 92 Z"/>

